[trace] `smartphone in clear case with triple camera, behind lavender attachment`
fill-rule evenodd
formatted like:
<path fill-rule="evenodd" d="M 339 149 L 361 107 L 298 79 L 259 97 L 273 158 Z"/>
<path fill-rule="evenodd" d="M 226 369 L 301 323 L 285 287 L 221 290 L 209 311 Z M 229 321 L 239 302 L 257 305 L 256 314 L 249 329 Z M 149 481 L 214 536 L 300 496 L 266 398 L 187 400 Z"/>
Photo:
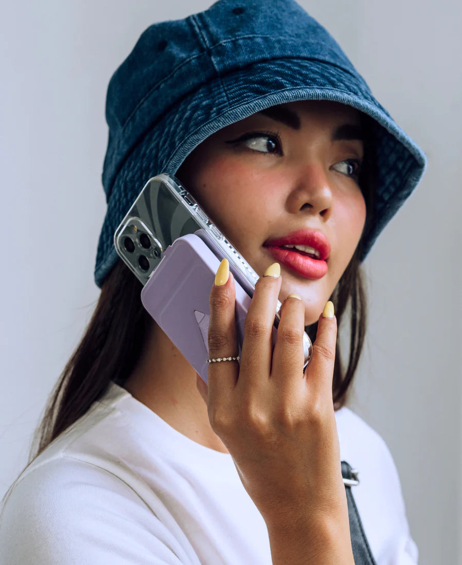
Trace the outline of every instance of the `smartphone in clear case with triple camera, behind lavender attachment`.
<path fill-rule="evenodd" d="M 254 294 L 256 281 L 259 279 L 257 273 L 252 269 L 249 263 L 241 257 L 232 243 L 226 239 L 224 234 L 217 229 L 191 194 L 189 194 L 184 186 L 181 185 L 180 181 L 178 181 L 175 177 L 162 173 L 161 175 L 155 176 L 147 181 L 140 195 L 138 195 L 137 199 L 134 201 L 132 207 L 130 207 L 130 210 L 127 212 L 127 215 L 125 215 L 125 218 L 121 221 L 114 234 L 114 245 L 117 254 L 119 254 L 121 259 L 143 284 L 142 300 L 144 300 L 146 304 L 149 303 L 148 294 L 154 293 L 154 288 L 157 289 L 157 285 L 154 284 L 154 282 L 147 286 L 147 289 L 146 285 L 159 268 L 165 254 L 168 252 L 168 257 L 171 257 L 172 250 L 168 250 L 168 248 L 173 247 L 173 244 L 179 238 L 183 238 L 188 235 L 194 235 L 199 241 L 202 241 L 203 244 L 201 245 L 196 239 L 194 239 L 193 241 L 195 241 L 195 246 L 191 249 L 194 249 L 195 251 L 198 250 L 199 253 L 202 251 L 206 253 L 204 250 L 207 249 L 214 255 L 215 259 L 218 261 L 218 263 L 213 262 L 214 265 L 216 264 L 216 268 L 218 268 L 218 265 L 224 257 L 228 259 L 229 268 L 233 273 L 235 280 L 236 292 L 239 285 L 239 288 L 241 288 L 242 291 L 247 294 L 247 297 L 251 299 Z M 182 247 L 182 244 L 180 244 L 180 247 Z M 190 253 L 193 252 L 190 251 Z M 176 254 L 174 254 L 174 256 L 176 257 Z M 207 265 L 209 265 L 212 260 L 208 254 L 207 257 Z M 188 264 L 191 265 L 190 262 Z M 163 284 L 167 284 L 166 290 L 168 290 L 172 296 L 175 295 L 178 297 L 178 293 L 175 289 L 173 289 L 173 286 L 177 285 L 180 279 L 173 276 L 176 270 L 173 267 L 171 260 L 166 262 L 163 268 L 166 269 L 167 265 L 168 269 L 171 270 L 171 278 L 169 279 L 168 284 L 165 282 L 165 279 L 163 279 Z M 181 267 L 181 263 L 178 267 L 184 270 L 183 279 L 188 280 L 188 268 L 185 266 Z M 213 272 L 213 277 L 215 277 L 215 272 Z M 201 306 L 202 310 L 200 310 L 207 316 L 210 314 L 210 310 L 208 310 L 208 297 L 210 295 L 212 280 L 208 286 L 204 282 L 204 290 L 207 295 L 207 306 Z M 183 292 L 185 292 L 185 289 L 183 289 Z M 143 304 L 145 302 L 143 302 Z M 249 304 L 250 301 L 247 301 L 244 297 L 242 297 L 242 308 L 248 308 Z M 277 301 L 274 317 L 274 329 L 277 328 L 280 320 L 279 311 L 281 306 L 281 302 Z M 207 311 L 204 311 L 204 308 L 206 308 Z M 237 314 L 238 309 L 239 308 L 236 310 Z M 172 310 L 172 314 L 174 310 L 175 309 Z M 150 310 L 148 311 L 152 318 L 154 318 L 155 321 L 158 321 L 156 319 L 157 314 L 154 309 L 150 307 Z M 246 313 L 247 310 L 245 310 L 245 314 Z M 241 316 L 240 312 L 239 316 Z M 194 331 L 200 331 L 198 325 L 196 325 Z M 238 339 L 240 340 L 240 351 L 243 334 L 241 335 L 241 328 L 238 328 L 238 325 L 237 332 Z M 167 333 L 167 335 L 172 339 L 167 331 L 165 331 L 165 333 Z M 188 344 L 190 338 L 191 336 L 187 334 L 182 336 L 182 340 L 185 344 Z M 175 341 L 173 342 L 175 343 Z M 182 347 L 178 346 L 176 343 L 175 345 L 183 353 Z M 310 362 L 312 356 L 312 344 L 310 337 L 308 337 L 306 332 L 303 333 L 303 350 L 304 369 Z M 187 355 L 185 355 L 185 357 L 189 362 L 191 362 L 190 357 Z M 204 362 L 206 358 L 204 358 Z M 196 371 L 202 376 L 202 378 L 204 378 L 201 371 L 198 371 L 197 368 Z"/>

